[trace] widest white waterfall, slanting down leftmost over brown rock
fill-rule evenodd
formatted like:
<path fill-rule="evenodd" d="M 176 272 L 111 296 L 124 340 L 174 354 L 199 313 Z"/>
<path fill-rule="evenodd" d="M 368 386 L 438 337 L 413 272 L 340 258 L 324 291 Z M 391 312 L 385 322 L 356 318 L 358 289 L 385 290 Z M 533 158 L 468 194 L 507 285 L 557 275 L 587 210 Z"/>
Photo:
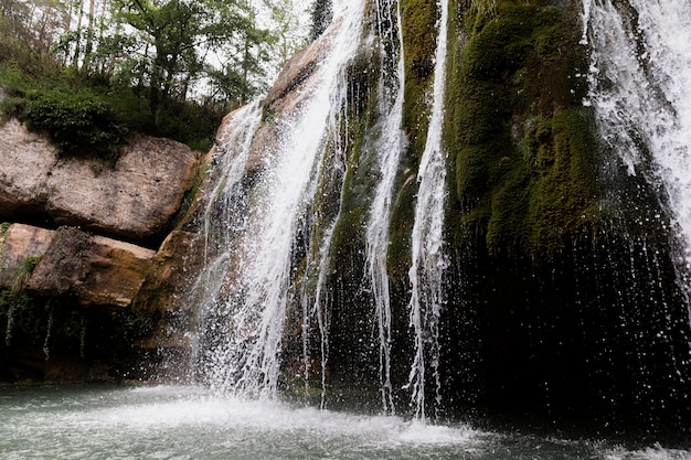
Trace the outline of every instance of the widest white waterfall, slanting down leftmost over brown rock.
<path fill-rule="evenodd" d="M 361 2 L 334 4 L 340 19 L 330 50 L 317 64 L 302 106 L 279 121 L 275 149 L 255 151 L 263 116 L 258 103 L 234 115 L 220 148 L 221 178 L 204 224 L 213 238 L 205 244 L 205 266 L 193 288 L 202 304 L 200 373 L 219 391 L 276 392 L 294 245 L 318 191 L 327 141 L 337 138 L 331 132 L 341 121 L 337 114 L 346 104 L 344 69 L 360 43 L 362 14 Z"/>

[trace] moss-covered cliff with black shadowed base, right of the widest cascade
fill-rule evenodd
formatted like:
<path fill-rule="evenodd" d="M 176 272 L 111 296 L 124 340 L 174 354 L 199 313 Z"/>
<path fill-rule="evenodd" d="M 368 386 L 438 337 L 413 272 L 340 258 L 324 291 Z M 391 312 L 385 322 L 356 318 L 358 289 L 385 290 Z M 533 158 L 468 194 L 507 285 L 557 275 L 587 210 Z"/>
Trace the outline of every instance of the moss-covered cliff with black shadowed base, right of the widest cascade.
<path fill-rule="evenodd" d="M 669 224 L 650 185 L 627 175 L 599 142 L 593 109 L 584 104 L 588 49 L 580 43 L 580 2 L 457 0 L 449 7 L 444 150 L 450 264 L 439 319 L 443 403 L 430 406 L 438 415 L 530 414 L 555 424 L 592 416 L 599 428 L 636 418 L 678 424 L 689 415 L 685 377 L 669 371 L 683 359 L 688 347 L 679 344 L 689 327 Z M 401 13 L 407 143 L 387 254 L 395 388 L 407 383 L 413 350 L 411 229 L 439 19 L 435 2 L 403 2 Z M 351 406 L 371 408 L 379 399 L 381 355 L 363 226 L 376 179 L 371 149 L 382 82 L 363 85 L 362 74 L 378 75 L 381 62 L 360 61 L 355 73 L 368 90 L 360 92 L 365 100 L 349 125 L 325 288 L 332 313 L 327 400 L 337 406 L 344 395 Z M 656 336 L 651 324 L 669 332 Z M 299 353 L 298 344 L 291 350 Z M 427 383 L 426 392 L 436 388 Z M 406 404 L 405 391 L 393 393 L 396 404 Z M 679 409 L 666 413 L 666 406 Z"/>

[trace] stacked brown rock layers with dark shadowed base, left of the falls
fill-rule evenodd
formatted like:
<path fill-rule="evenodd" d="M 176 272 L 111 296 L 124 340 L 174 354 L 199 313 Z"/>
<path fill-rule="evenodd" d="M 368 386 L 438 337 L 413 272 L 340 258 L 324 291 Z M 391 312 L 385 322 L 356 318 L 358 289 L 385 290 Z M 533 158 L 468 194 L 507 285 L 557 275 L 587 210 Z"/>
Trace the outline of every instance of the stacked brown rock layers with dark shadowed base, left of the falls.
<path fill-rule="evenodd" d="M 0 381 L 136 376 L 127 367 L 158 345 L 151 336 L 182 289 L 189 237 L 173 224 L 200 153 L 135 135 L 116 161 L 59 158 L 11 119 L 0 126 Z M 129 365 L 117 370 L 120 361 Z"/>

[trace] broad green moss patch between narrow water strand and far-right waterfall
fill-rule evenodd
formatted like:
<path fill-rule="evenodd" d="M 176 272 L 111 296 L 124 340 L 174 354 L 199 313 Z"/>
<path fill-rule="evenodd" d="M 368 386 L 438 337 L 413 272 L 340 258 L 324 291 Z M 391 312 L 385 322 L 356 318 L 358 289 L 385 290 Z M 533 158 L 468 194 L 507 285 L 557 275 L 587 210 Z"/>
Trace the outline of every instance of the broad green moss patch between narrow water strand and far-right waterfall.
<path fill-rule="evenodd" d="M 450 43 L 445 129 L 456 244 L 535 257 L 592 227 L 597 190 L 577 13 L 530 3 L 457 4 L 450 36 L 468 41 Z"/>

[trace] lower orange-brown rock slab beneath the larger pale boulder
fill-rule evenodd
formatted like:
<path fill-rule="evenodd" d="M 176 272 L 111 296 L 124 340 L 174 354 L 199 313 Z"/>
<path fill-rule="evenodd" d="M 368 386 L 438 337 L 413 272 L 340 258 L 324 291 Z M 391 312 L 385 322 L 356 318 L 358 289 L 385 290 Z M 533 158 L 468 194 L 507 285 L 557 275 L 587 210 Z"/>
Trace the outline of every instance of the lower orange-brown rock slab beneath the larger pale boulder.
<path fill-rule="evenodd" d="M 156 252 L 75 227 L 12 224 L 0 242 L 0 286 L 39 296 L 74 295 L 84 306 L 125 308 L 149 274 Z"/>

